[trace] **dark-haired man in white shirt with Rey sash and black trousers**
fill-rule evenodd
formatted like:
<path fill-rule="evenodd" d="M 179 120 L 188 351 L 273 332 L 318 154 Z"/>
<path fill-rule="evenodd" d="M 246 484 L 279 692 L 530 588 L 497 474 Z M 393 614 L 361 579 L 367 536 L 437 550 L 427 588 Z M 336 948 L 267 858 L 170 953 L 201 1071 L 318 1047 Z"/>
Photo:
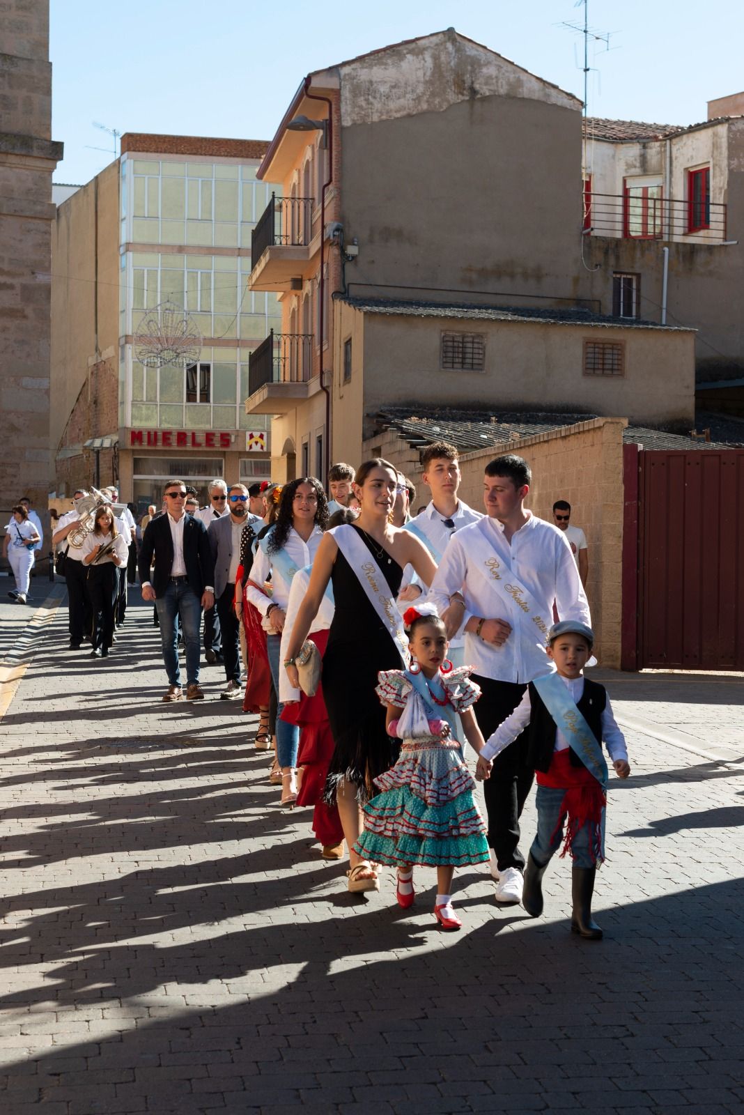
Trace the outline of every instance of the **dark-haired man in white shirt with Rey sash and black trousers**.
<path fill-rule="evenodd" d="M 550 671 L 546 637 L 554 600 L 559 619 L 591 622 L 566 537 L 525 510 L 530 482 L 529 465 L 513 454 L 486 466 L 486 517 L 450 540 L 430 589 L 448 626 L 459 617 L 466 632 L 464 659 L 482 690 L 476 718 L 487 739 L 519 705 L 527 683 Z M 460 592 L 464 605 L 450 604 Z M 520 736 L 497 756 L 483 785 L 498 902 L 521 901 L 519 816 L 532 777 Z"/>

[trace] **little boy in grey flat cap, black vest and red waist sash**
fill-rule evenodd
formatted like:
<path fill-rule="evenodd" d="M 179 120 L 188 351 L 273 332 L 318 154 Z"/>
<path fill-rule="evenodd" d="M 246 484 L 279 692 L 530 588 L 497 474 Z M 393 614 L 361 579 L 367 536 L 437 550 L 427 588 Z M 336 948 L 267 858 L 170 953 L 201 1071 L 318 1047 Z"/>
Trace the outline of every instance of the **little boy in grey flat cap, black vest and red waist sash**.
<path fill-rule="evenodd" d="M 538 821 L 525 871 L 522 905 L 532 918 L 542 913 L 542 875 L 562 840 L 560 854 L 569 852 L 572 861 L 571 931 L 596 941 L 603 932 L 591 917 L 591 895 L 597 866 L 605 859 L 608 777 L 603 740 L 618 778 L 627 778 L 630 767 L 625 737 L 605 687 L 584 677 L 593 646 L 594 631 L 586 623 L 554 623 L 547 653 L 556 669 L 530 681 L 521 702 L 488 739 L 478 760 L 478 776 L 488 777 L 493 756 L 528 729 Z"/>

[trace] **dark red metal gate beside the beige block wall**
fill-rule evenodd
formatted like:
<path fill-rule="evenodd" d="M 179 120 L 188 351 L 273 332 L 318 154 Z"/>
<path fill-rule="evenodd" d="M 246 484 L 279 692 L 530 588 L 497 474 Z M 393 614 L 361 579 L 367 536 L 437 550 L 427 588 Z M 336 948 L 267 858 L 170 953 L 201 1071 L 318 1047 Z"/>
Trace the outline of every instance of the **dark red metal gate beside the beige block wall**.
<path fill-rule="evenodd" d="M 744 449 L 628 445 L 625 487 L 624 669 L 744 670 Z"/>

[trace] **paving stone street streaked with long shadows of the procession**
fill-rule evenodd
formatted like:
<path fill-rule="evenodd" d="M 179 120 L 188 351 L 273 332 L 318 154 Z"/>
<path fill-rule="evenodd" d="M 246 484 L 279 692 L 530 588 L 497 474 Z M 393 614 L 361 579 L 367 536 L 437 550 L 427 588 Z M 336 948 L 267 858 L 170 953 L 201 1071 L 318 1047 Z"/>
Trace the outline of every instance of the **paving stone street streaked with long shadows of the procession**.
<path fill-rule="evenodd" d="M 91 662 L 60 609 L 0 723 L 2 1115 L 744 1112 L 741 687 L 659 682 L 695 746 L 731 729 L 722 758 L 628 731 L 604 942 L 568 931 L 565 861 L 538 920 L 457 872 L 444 934 L 433 872 L 411 911 L 390 873 L 347 894 L 221 670 L 164 706 L 157 644 L 135 601 Z"/>

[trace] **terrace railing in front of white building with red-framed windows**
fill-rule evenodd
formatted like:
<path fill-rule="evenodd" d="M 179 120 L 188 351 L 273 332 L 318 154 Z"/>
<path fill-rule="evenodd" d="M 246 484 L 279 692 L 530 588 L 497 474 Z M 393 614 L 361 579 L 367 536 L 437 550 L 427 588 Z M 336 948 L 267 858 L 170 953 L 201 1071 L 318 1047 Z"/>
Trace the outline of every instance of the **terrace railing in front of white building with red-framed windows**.
<path fill-rule="evenodd" d="M 681 201 L 655 196 L 659 187 L 630 188 L 624 194 L 584 194 L 584 229 L 594 236 L 624 240 L 727 239 L 726 205 L 707 198 Z M 660 191 L 659 191 L 660 192 Z"/>

